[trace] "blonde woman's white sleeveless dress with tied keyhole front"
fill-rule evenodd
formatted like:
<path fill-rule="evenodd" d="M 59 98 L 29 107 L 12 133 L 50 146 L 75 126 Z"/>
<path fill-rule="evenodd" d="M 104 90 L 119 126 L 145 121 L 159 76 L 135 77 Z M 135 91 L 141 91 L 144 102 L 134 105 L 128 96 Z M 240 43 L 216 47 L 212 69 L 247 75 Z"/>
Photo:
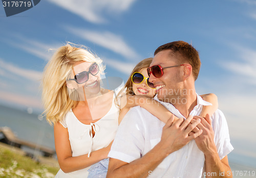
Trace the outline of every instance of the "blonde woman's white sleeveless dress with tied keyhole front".
<path fill-rule="evenodd" d="M 114 140 L 118 128 L 119 116 L 119 109 L 114 103 L 114 98 L 115 95 L 113 96 L 112 107 L 109 112 L 95 123 L 91 123 L 90 125 L 81 123 L 72 110 L 66 115 L 65 120 L 60 122 L 63 127 L 68 128 L 73 157 L 104 148 Z M 92 126 L 95 130 L 93 138 L 90 136 Z M 55 178 L 87 177 L 89 168 L 87 167 L 70 173 L 65 173 L 59 169 Z"/>

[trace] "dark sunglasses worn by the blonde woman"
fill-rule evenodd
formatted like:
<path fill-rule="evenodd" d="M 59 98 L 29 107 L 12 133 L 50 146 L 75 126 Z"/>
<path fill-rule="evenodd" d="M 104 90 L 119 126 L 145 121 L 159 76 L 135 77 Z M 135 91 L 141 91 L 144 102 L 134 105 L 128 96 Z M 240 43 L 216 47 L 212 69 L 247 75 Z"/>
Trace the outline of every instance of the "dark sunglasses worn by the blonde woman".
<path fill-rule="evenodd" d="M 88 81 L 89 74 L 92 74 L 93 76 L 95 76 L 96 74 L 98 74 L 98 72 L 99 72 L 99 65 L 96 62 L 94 62 L 90 66 L 89 71 L 83 71 L 79 74 L 76 74 L 73 79 L 69 79 L 69 80 L 75 80 L 76 83 L 81 84 Z"/>

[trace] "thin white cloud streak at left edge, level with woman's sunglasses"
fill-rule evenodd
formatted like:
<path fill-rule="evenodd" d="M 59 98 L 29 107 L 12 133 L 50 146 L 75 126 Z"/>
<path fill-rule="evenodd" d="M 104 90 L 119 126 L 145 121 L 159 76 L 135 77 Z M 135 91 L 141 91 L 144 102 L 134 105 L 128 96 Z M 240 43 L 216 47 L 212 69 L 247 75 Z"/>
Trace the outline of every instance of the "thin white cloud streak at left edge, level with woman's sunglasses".
<path fill-rule="evenodd" d="M 0 66 L 2 66 L 2 68 L 6 71 L 9 71 L 13 74 L 16 74 L 29 80 L 39 81 L 42 77 L 41 72 L 19 68 L 18 66 L 8 63 L 2 59 L 0 59 Z"/>

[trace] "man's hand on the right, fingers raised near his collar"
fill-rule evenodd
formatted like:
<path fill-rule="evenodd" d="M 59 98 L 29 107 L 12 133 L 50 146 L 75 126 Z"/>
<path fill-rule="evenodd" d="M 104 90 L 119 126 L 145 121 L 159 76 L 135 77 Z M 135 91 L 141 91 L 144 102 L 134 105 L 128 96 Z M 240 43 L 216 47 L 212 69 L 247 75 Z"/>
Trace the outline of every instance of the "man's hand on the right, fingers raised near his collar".
<path fill-rule="evenodd" d="M 198 148 L 203 151 L 204 154 L 218 153 L 214 142 L 214 130 L 212 129 L 209 115 L 207 114 L 205 118 L 195 116 L 193 120 L 191 120 L 191 123 L 196 123 L 198 119 L 201 120 L 201 123 L 199 123 L 197 128 L 189 133 L 189 135 L 193 135 L 193 133 L 199 129 L 203 130 L 203 133 L 195 139 Z"/>

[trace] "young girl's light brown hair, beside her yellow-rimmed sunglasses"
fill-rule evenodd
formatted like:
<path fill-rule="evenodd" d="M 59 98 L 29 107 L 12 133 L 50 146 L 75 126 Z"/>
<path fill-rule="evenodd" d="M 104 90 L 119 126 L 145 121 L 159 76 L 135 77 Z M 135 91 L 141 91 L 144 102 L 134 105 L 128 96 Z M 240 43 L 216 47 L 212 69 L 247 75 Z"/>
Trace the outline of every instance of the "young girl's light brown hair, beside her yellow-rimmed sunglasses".
<path fill-rule="evenodd" d="M 117 97 L 115 99 L 115 104 L 120 108 L 120 102 L 119 99 L 126 95 L 135 95 L 134 91 L 133 91 L 133 82 L 132 82 L 132 75 L 135 72 L 139 72 L 142 69 L 148 68 L 152 62 L 153 58 L 146 58 L 141 60 L 139 63 L 137 63 L 137 65 L 135 65 L 135 67 L 133 68 L 132 73 L 130 74 L 128 80 L 126 81 L 124 87 L 122 88 L 122 90 L 117 94 Z"/>

